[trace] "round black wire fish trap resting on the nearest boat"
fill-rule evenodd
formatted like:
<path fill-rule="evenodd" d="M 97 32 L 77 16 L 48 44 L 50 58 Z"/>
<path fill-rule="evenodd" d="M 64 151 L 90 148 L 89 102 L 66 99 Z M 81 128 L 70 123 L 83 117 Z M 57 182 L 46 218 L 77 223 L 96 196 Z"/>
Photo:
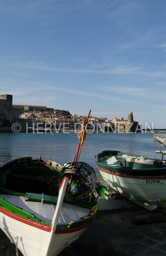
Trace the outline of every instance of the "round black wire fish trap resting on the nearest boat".
<path fill-rule="evenodd" d="M 94 169 L 84 162 L 72 162 L 65 165 L 55 180 L 53 180 L 52 193 L 57 193 L 63 178 L 69 177 L 65 192 L 65 199 L 91 201 L 96 188 L 97 178 Z"/>

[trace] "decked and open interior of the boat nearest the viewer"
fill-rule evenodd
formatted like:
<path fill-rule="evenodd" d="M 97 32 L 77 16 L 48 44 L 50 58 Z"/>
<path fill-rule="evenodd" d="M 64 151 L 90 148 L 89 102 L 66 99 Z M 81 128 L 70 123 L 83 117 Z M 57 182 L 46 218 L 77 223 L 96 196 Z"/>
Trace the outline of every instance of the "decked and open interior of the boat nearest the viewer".
<path fill-rule="evenodd" d="M 58 172 L 43 164 L 18 162 L 9 161 L 0 166 L 0 206 L 22 217 L 50 225 L 58 199 L 59 187 L 55 182 Z M 95 205 L 93 202 L 64 199 L 58 224 L 66 225 L 87 218 L 87 214 L 88 217 L 93 215 Z M 74 225 L 71 224 L 72 227 Z"/>

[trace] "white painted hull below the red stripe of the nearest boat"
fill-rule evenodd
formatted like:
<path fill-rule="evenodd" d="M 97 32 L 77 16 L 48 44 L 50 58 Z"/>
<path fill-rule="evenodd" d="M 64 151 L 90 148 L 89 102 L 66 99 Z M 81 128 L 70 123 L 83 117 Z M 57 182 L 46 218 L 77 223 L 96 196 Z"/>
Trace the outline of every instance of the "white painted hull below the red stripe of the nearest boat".
<path fill-rule="evenodd" d="M 15 220 L 2 212 L 0 212 L 0 228 L 14 244 L 18 240 L 18 248 L 24 256 L 44 255 L 50 232 Z M 54 234 L 49 256 L 58 255 L 65 247 L 78 239 L 85 229 L 71 233 Z"/>

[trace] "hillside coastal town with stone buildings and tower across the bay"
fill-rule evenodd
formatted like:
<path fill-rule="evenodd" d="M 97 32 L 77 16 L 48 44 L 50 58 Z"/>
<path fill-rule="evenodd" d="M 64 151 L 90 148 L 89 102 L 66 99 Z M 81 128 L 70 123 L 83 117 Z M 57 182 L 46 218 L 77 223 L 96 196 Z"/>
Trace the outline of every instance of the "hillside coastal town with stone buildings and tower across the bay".
<path fill-rule="evenodd" d="M 14 123 L 21 126 L 21 131 L 26 130 L 25 124 L 28 124 L 28 127 L 40 129 L 78 130 L 86 117 L 86 115 L 71 115 L 69 111 L 47 108 L 47 106 L 13 105 L 12 95 L 0 96 L 0 131 L 9 131 Z M 141 130 L 139 122 L 133 120 L 132 111 L 126 119 L 113 117 L 109 120 L 105 117 L 90 116 L 87 128 L 93 131 L 135 132 Z"/>

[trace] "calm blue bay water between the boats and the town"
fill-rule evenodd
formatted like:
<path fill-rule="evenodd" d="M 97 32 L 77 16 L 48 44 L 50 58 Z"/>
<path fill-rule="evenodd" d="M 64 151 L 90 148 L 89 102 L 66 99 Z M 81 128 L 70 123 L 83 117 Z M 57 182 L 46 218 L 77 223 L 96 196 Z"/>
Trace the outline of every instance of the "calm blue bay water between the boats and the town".
<path fill-rule="evenodd" d="M 36 159 L 41 155 L 43 160 L 52 159 L 63 165 L 72 162 L 77 145 L 78 138 L 74 132 L 0 133 L 0 164 L 22 156 Z M 79 161 L 86 162 L 98 172 L 94 156 L 103 150 L 114 149 L 154 158 L 154 151 L 160 148 L 165 150 L 161 143 L 153 140 L 152 133 L 92 133 L 87 134 Z M 161 158 L 161 155 L 156 158 Z"/>

